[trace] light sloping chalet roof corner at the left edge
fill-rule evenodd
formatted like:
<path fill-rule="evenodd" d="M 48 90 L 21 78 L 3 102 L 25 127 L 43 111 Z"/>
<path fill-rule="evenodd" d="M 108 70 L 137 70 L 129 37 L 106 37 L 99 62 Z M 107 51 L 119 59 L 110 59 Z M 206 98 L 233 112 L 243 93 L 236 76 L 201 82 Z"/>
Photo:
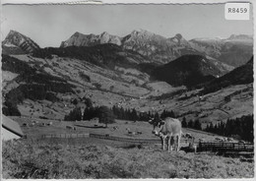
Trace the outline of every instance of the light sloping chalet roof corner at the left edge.
<path fill-rule="evenodd" d="M 20 125 L 16 121 L 12 120 L 11 118 L 3 114 L 2 114 L 2 127 L 20 137 L 24 136 L 24 133 Z"/>

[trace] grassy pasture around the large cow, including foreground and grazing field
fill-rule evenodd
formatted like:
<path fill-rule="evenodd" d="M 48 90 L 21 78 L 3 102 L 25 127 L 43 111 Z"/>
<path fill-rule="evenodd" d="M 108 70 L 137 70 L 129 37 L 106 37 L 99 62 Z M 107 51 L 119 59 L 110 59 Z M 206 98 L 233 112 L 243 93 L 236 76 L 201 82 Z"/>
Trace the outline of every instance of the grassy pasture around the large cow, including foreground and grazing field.
<path fill-rule="evenodd" d="M 13 117 L 21 126 L 35 119 Z M 156 138 L 152 125 L 147 122 L 116 120 L 108 128 L 77 127 L 76 124 L 94 126 L 96 122 L 52 122 L 51 126 L 22 126 L 27 139 L 2 143 L 2 174 L 5 179 L 84 179 L 84 178 L 252 178 L 254 161 L 242 157 L 224 157 L 213 152 L 194 153 L 162 151 L 159 144 L 132 144 L 96 138 L 42 139 L 50 134 L 109 134 L 117 137 Z M 117 126 L 117 130 L 113 127 Z M 129 136 L 131 131 L 141 135 Z M 199 139 L 213 141 L 217 136 L 192 129 L 183 129 Z M 182 141 L 181 141 L 182 142 Z M 184 144 L 184 142 L 183 142 Z M 184 145 L 183 145 L 184 146 Z M 183 147 L 181 144 L 181 147 Z"/>

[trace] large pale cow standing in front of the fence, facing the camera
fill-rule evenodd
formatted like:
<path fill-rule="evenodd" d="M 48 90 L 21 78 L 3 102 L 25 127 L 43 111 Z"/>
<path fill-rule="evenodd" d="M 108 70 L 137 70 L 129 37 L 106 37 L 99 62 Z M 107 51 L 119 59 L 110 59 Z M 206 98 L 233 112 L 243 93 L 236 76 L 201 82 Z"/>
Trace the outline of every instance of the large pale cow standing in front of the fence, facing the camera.
<path fill-rule="evenodd" d="M 159 121 L 151 119 L 149 122 L 154 126 L 152 133 L 161 138 L 162 150 L 164 150 L 165 140 L 167 139 L 168 151 L 172 151 L 171 145 L 173 143 L 174 149 L 179 151 L 182 131 L 181 123 L 178 119 L 167 117 Z"/>

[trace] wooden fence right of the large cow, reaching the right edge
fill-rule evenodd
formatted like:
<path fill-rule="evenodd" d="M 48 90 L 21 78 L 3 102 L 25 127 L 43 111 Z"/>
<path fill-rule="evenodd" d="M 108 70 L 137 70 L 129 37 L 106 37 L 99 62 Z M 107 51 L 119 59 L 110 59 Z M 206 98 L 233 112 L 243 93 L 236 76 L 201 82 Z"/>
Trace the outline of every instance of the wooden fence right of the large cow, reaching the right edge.
<path fill-rule="evenodd" d="M 212 142 L 199 143 L 197 151 L 254 151 L 253 144 L 228 143 L 228 142 Z"/>

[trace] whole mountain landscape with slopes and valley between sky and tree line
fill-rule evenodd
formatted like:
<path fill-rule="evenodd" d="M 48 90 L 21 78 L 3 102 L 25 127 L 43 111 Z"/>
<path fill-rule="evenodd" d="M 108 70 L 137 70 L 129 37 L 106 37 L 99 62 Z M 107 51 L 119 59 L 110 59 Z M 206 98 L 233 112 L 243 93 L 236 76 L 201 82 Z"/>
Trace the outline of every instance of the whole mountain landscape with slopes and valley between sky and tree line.
<path fill-rule="evenodd" d="M 19 109 L 27 116 L 63 119 L 75 106 L 85 107 L 83 97 L 94 106 L 170 109 L 189 119 L 205 107 L 211 120 L 229 118 L 226 112 L 252 112 L 249 35 L 186 40 L 179 33 L 163 37 L 148 30 L 124 37 L 76 32 L 60 47 L 40 48 L 11 30 L 2 47 L 3 107 L 9 115 Z M 224 104 L 223 95 L 232 91 L 246 94 L 244 109 L 239 98 Z M 197 104 L 198 94 L 208 94 L 213 102 Z M 74 99 L 79 103 L 74 105 Z"/>

